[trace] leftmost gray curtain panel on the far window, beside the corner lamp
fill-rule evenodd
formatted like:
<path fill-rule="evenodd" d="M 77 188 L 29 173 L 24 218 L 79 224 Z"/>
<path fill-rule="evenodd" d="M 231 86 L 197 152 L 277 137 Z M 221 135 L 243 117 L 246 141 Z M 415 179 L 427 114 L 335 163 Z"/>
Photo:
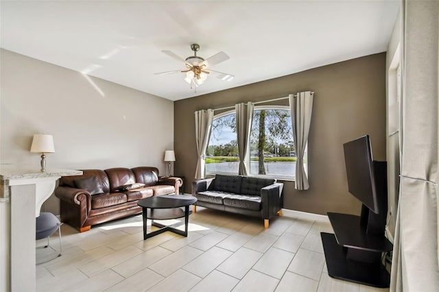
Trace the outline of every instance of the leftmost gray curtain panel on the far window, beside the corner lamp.
<path fill-rule="evenodd" d="M 195 143 L 197 144 L 198 161 L 195 180 L 206 177 L 206 149 L 211 136 L 213 110 L 198 110 L 195 112 Z"/>

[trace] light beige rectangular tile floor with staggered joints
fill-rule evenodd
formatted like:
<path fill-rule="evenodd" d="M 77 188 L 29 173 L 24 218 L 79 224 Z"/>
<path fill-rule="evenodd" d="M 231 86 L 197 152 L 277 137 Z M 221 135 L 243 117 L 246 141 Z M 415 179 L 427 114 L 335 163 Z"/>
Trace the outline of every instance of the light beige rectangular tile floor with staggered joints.
<path fill-rule="evenodd" d="M 201 207 L 189 222 L 187 237 L 147 241 L 141 215 L 84 233 L 64 224 L 63 254 L 37 265 L 37 291 L 388 291 L 328 276 L 327 222 L 283 216 L 264 230 L 261 219 Z M 37 262 L 47 252 L 37 250 Z"/>

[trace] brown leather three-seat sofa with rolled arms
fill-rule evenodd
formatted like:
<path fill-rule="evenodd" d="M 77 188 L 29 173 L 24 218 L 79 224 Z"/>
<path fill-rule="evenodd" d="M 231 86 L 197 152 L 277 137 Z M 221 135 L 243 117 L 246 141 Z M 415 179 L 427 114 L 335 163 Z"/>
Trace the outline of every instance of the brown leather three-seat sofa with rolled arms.
<path fill-rule="evenodd" d="M 181 178 L 161 178 L 156 167 L 84 169 L 63 176 L 55 190 L 61 221 L 80 232 L 91 226 L 142 212 L 139 199 L 179 193 Z"/>

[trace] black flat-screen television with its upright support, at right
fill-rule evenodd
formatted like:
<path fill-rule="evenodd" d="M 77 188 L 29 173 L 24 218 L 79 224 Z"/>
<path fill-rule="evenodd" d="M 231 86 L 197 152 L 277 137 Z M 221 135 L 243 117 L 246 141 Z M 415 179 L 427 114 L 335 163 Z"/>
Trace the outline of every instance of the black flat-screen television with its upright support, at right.
<path fill-rule="evenodd" d="M 344 143 L 343 149 L 348 191 L 363 204 L 361 225 L 382 233 L 387 216 L 386 163 L 373 160 L 369 135 Z"/>

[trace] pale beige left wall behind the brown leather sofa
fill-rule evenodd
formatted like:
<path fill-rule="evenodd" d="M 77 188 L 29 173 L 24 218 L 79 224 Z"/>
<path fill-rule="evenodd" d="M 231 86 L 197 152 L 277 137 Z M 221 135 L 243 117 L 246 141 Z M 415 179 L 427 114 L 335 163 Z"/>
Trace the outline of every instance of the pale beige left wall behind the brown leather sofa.
<path fill-rule="evenodd" d="M 47 168 L 158 167 L 174 146 L 174 102 L 0 51 L 0 167 L 32 165 L 33 134 L 54 135 Z M 49 205 L 49 206 L 48 206 Z M 54 196 L 45 210 L 59 214 Z"/>

